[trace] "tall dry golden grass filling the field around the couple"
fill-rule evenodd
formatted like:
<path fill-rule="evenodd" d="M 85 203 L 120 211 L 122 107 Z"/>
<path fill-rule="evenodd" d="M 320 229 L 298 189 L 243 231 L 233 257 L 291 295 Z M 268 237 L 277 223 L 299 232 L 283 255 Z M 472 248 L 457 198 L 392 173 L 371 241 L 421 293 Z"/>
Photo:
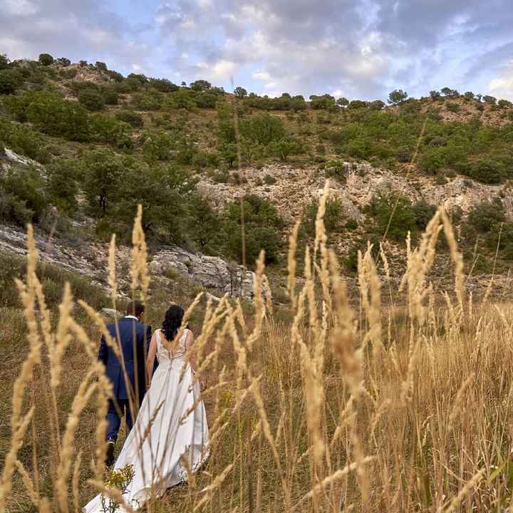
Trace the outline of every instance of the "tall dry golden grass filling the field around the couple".
<path fill-rule="evenodd" d="M 297 230 L 291 236 L 291 321 L 277 321 L 271 299 L 261 294 L 251 308 L 227 298 L 217 305 L 189 301 L 190 311 L 203 319 L 195 351 L 200 374 L 207 375 L 212 453 L 189 484 L 147 504 L 148 512 L 509 507 L 511 306 L 489 304 L 487 296 L 472 304 L 442 211 L 418 247 L 408 244 L 399 291 L 389 285 L 383 252 L 378 262 L 370 249 L 359 256 L 360 301 L 351 305 L 327 246 L 325 199 L 301 285 L 295 276 Z M 455 279 L 439 306 L 429 271 L 442 230 Z M 5 309 L 1 319 L 9 361 L 21 353 L 26 358 L 21 368 L 12 366 L 16 380 L 4 373 L 13 393 L 11 406 L 2 406 L 10 422 L 1 425 L 0 512 L 68 513 L 104 486 L 110 385 L 96 361 L 103 319 L 83 302 L 73 307 L 69 289 L 58 311 L 47 309 L 30 232 L 28 240 L 26 279 L 18 283 L 26 324 L 15 309 Z M 140 217 L 133 257 L 133 293 L 145 297 Z M 114 260 L 113 243 L 111 269 Z M 262 261 L 257 292 L 266 279 Z M 115 298 L 112 270 L 109 283 Z M 382 305 L 382 294 L 390 305 Z M 176 298 L 150 294 L 152 321 L 170 299 Z"/>

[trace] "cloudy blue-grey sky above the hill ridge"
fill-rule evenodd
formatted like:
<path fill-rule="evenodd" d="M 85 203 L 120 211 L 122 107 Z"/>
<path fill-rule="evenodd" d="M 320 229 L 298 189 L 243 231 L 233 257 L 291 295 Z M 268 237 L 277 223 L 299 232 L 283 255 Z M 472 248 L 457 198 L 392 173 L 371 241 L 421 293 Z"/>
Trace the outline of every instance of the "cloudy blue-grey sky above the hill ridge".
<path fill-rule="evenodd" d="M 269 96 L 513 100 L 513 0 L 0 0 L 0 53 Z"/>

